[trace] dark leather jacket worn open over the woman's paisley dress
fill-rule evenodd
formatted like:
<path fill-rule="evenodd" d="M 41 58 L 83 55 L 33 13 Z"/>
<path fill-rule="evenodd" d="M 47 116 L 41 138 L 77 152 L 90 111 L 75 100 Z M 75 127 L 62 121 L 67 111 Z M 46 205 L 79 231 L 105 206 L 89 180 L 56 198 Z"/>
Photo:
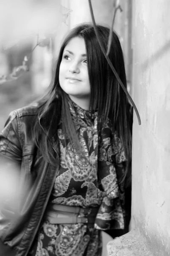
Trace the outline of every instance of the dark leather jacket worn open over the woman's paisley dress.
<path fill-rule="evenodd" d="M 59 169 L 59 156 L 54 169 L 32 139 L 38 108 L 35 104 L 12 111 L 0 134 L 0 182 L 5 177 L 10 183 L 12 177 L 15 183 L 14 193 L 0 196 L 0 256 L 28 255 Z"/>

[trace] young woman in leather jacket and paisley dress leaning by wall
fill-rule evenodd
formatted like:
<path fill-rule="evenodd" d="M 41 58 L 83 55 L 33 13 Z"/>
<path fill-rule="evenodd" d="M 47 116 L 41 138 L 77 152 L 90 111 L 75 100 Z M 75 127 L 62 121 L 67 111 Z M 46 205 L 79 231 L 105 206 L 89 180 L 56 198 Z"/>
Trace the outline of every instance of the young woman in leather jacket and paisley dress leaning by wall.
<path fill-rule="evenodd" d="M 97 29 L 106 49 L 109 28 Z M 126 87 L 115 33 L 109 58 Z M 75 27 L 48 92 L 13 111 L 0 134 L 1 163 L 15 177 L 1 199 L 1 256 L 100 256 L 101 230 L 125 229 L 130 116 L 93 26 Z"/>

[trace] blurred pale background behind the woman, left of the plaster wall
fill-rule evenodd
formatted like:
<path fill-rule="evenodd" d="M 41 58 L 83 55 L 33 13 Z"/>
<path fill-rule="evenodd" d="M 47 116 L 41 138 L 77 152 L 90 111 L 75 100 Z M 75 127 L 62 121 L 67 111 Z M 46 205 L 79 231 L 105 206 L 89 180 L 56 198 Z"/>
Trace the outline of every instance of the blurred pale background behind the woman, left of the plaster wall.
<path fill-rule="evenodd" d="M 131 74 L 131 0 L 92 0 L 96 22 L 119 35 L 127 80 Z M 88 0 L 0 1 L 0 130 L 8 114 L 40 96 L 51 82 L 63 36 L 81 22 L 91 21 Z"/>

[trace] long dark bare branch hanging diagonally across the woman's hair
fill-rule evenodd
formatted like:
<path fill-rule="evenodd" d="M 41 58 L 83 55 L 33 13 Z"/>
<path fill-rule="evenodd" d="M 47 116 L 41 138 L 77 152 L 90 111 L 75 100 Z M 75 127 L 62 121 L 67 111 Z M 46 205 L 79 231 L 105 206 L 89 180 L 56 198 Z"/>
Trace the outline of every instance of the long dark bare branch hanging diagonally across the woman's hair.
<path fill-rule="evenodd" d="M 97 38 L 97 41 L 99 43 L 99 46 L 100 46 L 100 48 L 101 48 L 101 50 L 102 50 L 106 60 L 108 61 L 108 64 L 110 65 L 111 70 L 113 71 L 114 75 L 116 76 L 117 81 L 119 82 L 120 86 L 124 90 L 127 98 L 130 100 L 131 104 L 133 105 L 133 108 L 134 108 L 134 110 L 136 112 L 136 116 L 137 116 L 137 119 L 138 119 L 138 123 L 139 123 L 139 125 L 141 125 L 141 119 L 140 119 L 140 116 L 139 116 L 139 112 L 138 112 L 138 110 L 136 108 L 136 105 L 133 102 L 133 99 L 130 97 L 129 93 L 127 92 L 127 89 L 125 88 L 124 84 L 122 83 L 121 79 L 119 78 L 115 68 L 113 67 L 113 64 L 111 63 L 110 58 L 108 58 L 108 56 L 106 55 L 105 49 L 102 46 L 102 42 L 100 41 L 100 36 L 99 36 L 98 30 L 97 30 L 97 27 L 96 27 L 96 22 L 95 22 L 95 19 L 94 19 L 94 13 L 93 13 L 92 5 L 91 5 L 91 0 L 88 0 L 88 3 L 89 3 L 89 7 L 90 7 L 90 12 L 91 12 L 91 18 L 92 18 L 93 25 L 94 25 L 94 31 L 96 33 L 96 38 Z"/>

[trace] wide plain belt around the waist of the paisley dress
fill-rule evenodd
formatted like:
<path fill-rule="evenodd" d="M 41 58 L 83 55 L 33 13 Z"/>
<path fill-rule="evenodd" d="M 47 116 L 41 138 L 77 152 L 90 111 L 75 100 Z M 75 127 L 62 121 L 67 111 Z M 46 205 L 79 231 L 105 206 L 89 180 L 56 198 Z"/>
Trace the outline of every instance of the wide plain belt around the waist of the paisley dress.
<path fill-rule="evenodd" d="M 99 207 L 82 208 L 61 204 L 49 204 L 45 219 L 51 224 L 77 224 L 94 225 Z"/>

